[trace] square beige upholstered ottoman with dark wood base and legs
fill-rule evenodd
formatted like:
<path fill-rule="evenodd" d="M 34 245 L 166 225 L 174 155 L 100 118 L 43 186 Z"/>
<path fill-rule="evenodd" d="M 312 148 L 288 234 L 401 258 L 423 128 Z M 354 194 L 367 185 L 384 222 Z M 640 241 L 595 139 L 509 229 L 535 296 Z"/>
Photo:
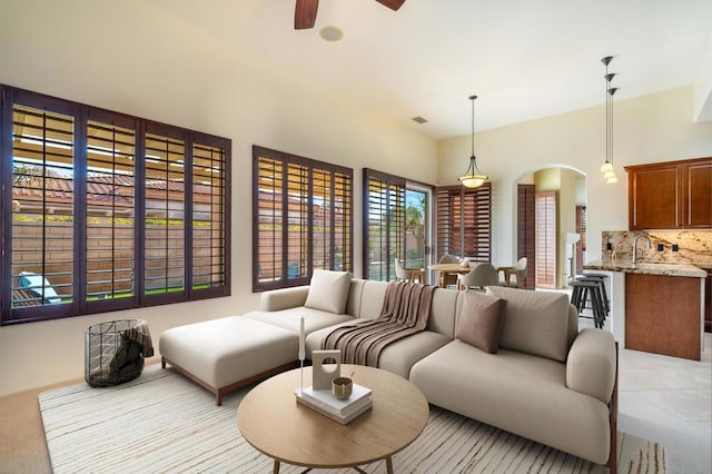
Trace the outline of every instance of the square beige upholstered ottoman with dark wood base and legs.
<path fill-rule="evenodd" d="M 243 316 L 170 328 L 161 334 L 161 366 L 170 364 L 222 404 L 222 395 L 298 365 L 299 335 Z"/>

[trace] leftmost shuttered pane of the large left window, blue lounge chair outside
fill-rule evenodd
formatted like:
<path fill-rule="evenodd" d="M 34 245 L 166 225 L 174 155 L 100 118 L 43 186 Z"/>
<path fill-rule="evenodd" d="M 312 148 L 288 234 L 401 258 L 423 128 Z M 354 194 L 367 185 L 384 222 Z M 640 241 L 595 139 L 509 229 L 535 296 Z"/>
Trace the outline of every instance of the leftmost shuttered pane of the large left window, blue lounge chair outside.
<path fill-rule="evenodd" d="M 72 117 L 13 106 L 12 306 L 72 296 Z"/>

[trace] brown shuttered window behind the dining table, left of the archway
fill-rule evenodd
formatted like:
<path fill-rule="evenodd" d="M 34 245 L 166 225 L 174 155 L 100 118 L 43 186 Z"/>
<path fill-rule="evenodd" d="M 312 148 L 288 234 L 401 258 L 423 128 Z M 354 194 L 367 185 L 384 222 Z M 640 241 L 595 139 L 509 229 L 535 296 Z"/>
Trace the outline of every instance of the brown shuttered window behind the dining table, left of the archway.
<path fill-rule="evenodd" d="M 471 189 L 439 187 L 437 196 L 436 259 L 445 254 L 492 260 L 492 184 Z"/>

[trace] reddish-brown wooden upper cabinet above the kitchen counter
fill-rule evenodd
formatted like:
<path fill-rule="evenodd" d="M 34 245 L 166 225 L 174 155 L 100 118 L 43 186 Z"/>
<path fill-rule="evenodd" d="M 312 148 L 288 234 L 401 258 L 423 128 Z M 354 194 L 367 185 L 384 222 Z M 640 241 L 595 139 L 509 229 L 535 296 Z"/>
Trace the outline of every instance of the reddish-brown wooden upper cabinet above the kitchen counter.
<path fill-rule="evenodd" d="M 712 228 L 712 157 L 625 167 L 629 228 Z"/>

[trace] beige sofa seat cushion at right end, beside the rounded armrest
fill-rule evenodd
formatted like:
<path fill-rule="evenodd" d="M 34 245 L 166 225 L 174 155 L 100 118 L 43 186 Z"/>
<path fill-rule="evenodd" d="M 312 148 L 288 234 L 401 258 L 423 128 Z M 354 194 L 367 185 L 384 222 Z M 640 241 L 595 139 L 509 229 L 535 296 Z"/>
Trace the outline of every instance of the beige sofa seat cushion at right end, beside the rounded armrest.
<path fill-rule="evenodd" d="M 417 362 L 409 376 L 434 405 L 604 464 L 607 406 L 566 388 L 565 378 L 562 363 L 502 346 L 488 354 L 462 340 Z"/>

